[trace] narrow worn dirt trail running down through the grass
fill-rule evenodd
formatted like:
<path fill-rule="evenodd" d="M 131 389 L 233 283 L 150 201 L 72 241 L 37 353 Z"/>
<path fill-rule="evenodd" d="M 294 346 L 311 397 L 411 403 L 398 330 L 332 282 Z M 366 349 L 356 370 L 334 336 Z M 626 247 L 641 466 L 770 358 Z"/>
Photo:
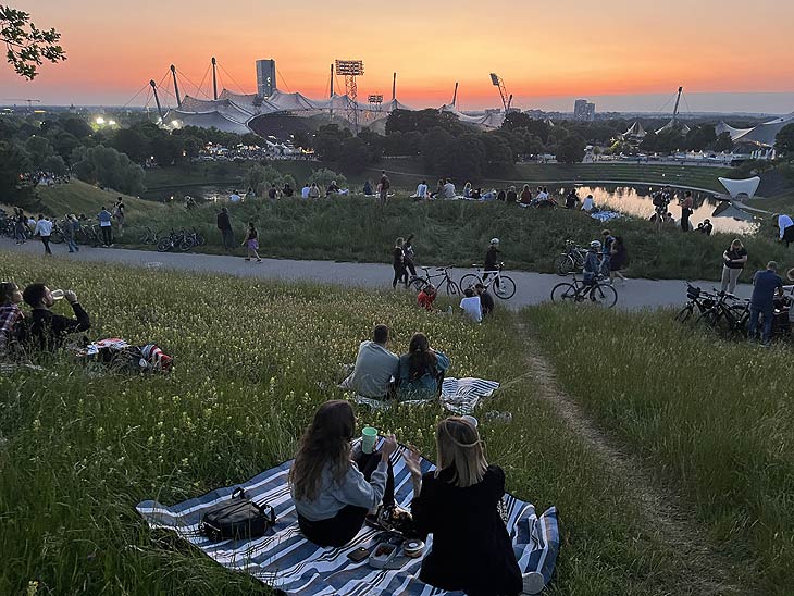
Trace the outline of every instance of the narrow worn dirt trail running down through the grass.
<path fill-rule="evenodd" d="M 684 554 L 687 559 L 678 579 L 681 589 L 670 594 L 748 594 L 732 583 L 730 562 L 715 552 L 698 532 L 699 524 L 683 506 L 681 497 L 668 487 L 659 486 L 646 472 L 640 458 L 626 452 L 598 430 L 595 422 L 558 384 L 554 367 L 544 356 L 531 326 L 523 321 L 519 321 L 518 326 L 524 337 L 529 369 L 522 376 L 534 382 L 538 396 L 549 401 L 566 425 L 604 460 L 613 475 L 621 479 L 626 493 L 633 496 L 646 518 L 648 527 L 656 529 L 669 546 Z"/>

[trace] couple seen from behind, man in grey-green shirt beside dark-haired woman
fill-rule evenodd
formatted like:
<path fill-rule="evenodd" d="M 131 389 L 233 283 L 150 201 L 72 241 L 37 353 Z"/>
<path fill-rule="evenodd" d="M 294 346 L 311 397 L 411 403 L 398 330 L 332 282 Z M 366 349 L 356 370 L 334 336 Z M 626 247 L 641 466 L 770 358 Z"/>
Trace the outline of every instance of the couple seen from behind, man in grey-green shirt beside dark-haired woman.
<path fill-rule="evenodd" d="M 430 347 L 427 337 L 414 333 L 408 353 L 388 350 L 389 331 L 376 325 L 372 339 L 362 342 L 352 373 L 339 384 L 370 399 L 433 399 L 441 394 L 449 358 Z"/>

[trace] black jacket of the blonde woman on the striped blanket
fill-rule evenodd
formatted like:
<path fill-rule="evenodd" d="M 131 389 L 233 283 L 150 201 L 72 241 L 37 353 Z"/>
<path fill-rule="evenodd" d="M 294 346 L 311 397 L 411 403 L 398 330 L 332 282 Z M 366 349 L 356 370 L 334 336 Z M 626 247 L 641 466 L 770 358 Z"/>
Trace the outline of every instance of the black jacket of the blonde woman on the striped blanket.
<path fill-rule="evenodd" d="M 505 494 L 505 472 L 489 465 L 482 482 L 467 488 L 450 484 L 451 477 L 449 468 L 438 477 L 424 474 L 422 491 L 411 502 L 420 537 L 433 534 L 420 580 L 477 596 L 521 593 L 521 570 L 497 510 Z"/>

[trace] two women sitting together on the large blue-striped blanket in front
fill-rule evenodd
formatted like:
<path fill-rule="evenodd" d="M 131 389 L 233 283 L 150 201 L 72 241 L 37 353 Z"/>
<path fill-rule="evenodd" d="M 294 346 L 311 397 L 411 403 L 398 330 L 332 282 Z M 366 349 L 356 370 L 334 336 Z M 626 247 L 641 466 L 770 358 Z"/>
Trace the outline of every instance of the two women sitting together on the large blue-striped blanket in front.
<path fill-rule="evenodd" d="M 352 449 L 356 415 L 349 402 L 320 406 L 306 430 L 289 483 L 298 525 L 307 539 L 323 547 L 340 547 L 359 533 L 368 514 L 395 504 L 389 458 L 397 448 L 394 435 L 380 451 Z M 438 467 L 422 474 L 419 454 L 405 454 L 413 482 L 409 538 L 433 546 L 424 556 L 420 580 L 470 596 L 534 594 L 537 578 L 522 576 L 498 505 L 505 495 L 505 472 L 488 465 L 475 422 L 450 417 L 436 430 Z M 379 516 L 380 518 L 380 516 Z M 533 582 L 535 584 L 533 585 Z"/>

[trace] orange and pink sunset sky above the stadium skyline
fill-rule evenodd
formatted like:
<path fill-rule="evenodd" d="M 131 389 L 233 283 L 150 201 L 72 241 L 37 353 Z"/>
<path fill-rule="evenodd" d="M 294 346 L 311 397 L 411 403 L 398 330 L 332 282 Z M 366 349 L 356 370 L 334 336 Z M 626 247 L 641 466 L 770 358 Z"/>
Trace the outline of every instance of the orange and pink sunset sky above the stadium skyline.
<path fill-rule="evenodd" d="M 779 0 L 12 4 L 39 27 L 58 28 L 69 60 L 46 65 L 33 83 L 1 65 L 0 103 L 124 104 L 171 63 L 198 84 L 215 55 L 224 86 L 246 92 L 256 90 L 255 60 L 274 58 L 281 89 L 322 97 L 338 58 L 364 61 L 359 97 L 390 97 L 396 71 L 398 98 L 417 108 L 450 101 L 456 80 L 461 109 L 495 108 L 493 71 L 521 109 L 571 110 L 583 97 L 598 111 L 656 112 L 683 85 L 684 110 L 794 111 L 794 2 Z M 186 79 L 181 86 L 203 97 Z M 145 100 L 146 94 L 134 103 Z"/>

